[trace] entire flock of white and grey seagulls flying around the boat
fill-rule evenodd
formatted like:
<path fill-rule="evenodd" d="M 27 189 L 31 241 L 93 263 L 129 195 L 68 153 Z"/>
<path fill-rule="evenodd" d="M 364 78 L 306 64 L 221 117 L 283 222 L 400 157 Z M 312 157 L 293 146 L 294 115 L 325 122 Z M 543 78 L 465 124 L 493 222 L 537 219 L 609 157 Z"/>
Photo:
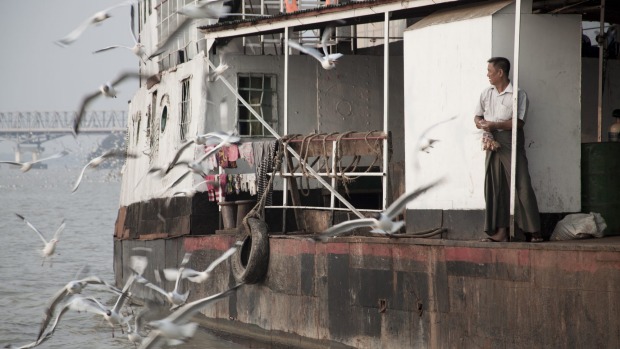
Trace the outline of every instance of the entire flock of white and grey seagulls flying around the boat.
<path fill-rule="evenodd" d="M 189 5 L 190 7 L 184 8 L 182 11 L 179 11 L 179 13 L 186 15 L 187 19 L 182 21 L 179 24 L 179 28 L 175 30 L 172 34 L 170 34 L 168 39 L 163 40 L 162 44 L 160 44 L 152 54 L 147 56 L 147 54 L 144 51 L 143 46 L 140 44 L 139 40 L 137 39 L 134 33 L 134 28 L 133 28 L 134 3 L 135 3 L 135 0 L 124 1 L 120 4 L 107 8 L 103 11 L 97 12 L 96 14 L 89 17 L 82 24 L 80 24 L 75 30 L 70 32 L 67 36 L 58 40 L 57 43 L 63 47 L 70 45 L 72 42 L 77 40 L 80 37 L 80 35 L 89 26 L 101 23 L 105 19 L 109 18 L 110 11 L 112 11 L 113 9 L 116 9 L 122 6 L 130 6 L 131 23 L 132 23 L 131 31 L 132 31 L 132 36 L 133 36 L 135 45 L 132 48 L 130 47 L 126 47 L 126 48 L 131 49 L 134 52 L 134 54 L 140 57 L 141 60 L 143 60 L 144 58 L 150 59 L 160 54 L 162 50 L 165 49 L 165 47 L 170 43 L 170 41 L 174 39 L 176 35 L 178 35 L 178 32 L 182 31 L 185 26 L 189 25 L 189 23 L 191 22 L 191 19 L 209 18 L 209 17 L 219 18 L 221 16 L 226 15 L 228 11 L 230 10 L 226 6 L 222 5 L 223 3 L 222 0 L 198 1 L 195 4 L 193 3 Z M 331 35 L 333 34 L 333 30 L 334 30 L 333 26 L 328 26 L 323 33 L 323 36 L 321 39 L 321 45 L 323 48 L 322 54 L 314 48 L 299 45 L 295 41 L 289 41 L 289 46 L 301 52 L 304 52 L 308 55 L 311 55 L 317 61 L 320 62 L 321 66 L 324 69 L 333 69 L 335 67 L 336 61 L 340 57 L 342 57 L 342 54 L 329 54 L 328 53 L 327 42 L 329 38 L 331 37 Z M 107 51 L 107 50 L 110 50 L 116 47 L 122 47 L 122 46 L 118 46 L 118 45 L 109 46 L 109 47 L 103 48 L 95 52 L 96 53 L 104 52 L 104 51 Z M 217 75 L 221 74 L 221 72 L 223 72 L 226 68 L 227 66 L 225 64 L 223 63 L 220 64 L 220 67 L 218 67 L 215 70 L 215 73 L 216 73 L 215 76 L 217 77 Z M 105 96 L 105 97 L 110 97 L 110 98 L 116 97 L 115 86 L 128 78 L 136 78 L 136 77 L 140 77 L 140 75 L 137 73 L 133 73 L 133 72 L 122 73 L 116 79 L 102 85 L 98 91 L 87 95 L 83 99 L 80 105 L 80 108 L 79 108 L 79 112 L 74 119 L 74 123 L 73 123 L 74 136 L 77 137 L 77 135 L 79 134 L 79 126 L 80 126 L 81 119 L 84 115 L 85 109 L 87 108 L 88 104 L 93 99 L 99 96 Z M 226 116 L 225 114 L 227 114 L 225 105 L 226 103 L 221 103 L 220 112 L 221 112 L 222 117 Z M 180 177 L 177 180 L 173 181 L 172 184 L 170 184 L 168 187 L 164 189 L 163 193 L 165 193 L 165 191 L 176 186 L 178 183 L 181 182 L 183 178 L 185 178 L 186 176 L 190 174 L 197 174 L 201 176 L 202 178 L 204 178 L 205 171 L 202 167 L 202 162 L 205 161 L 209 156 L 212 156 L 213 154 L 215 154 L 215 152 L 219 148 L 230 145 L 230 144 L 236 144 L 239 141 L 240 141 L 240 138 L 237 135 L 235 135 L 234 132 L 215 131 L 215 132 L 210 132 L 204 135 L 198 135 L 195 138 L 192 138 L 186 141 L 184 144 L 180 145 L 178 151 L 176 152 L 173 159 L 169 163 L 167 163 L 165 166 L 162 166 L 162 167 L 151 167 L 146 175 L 157 175 L 159 177 L 164 177 L 173 168 L 177 166 L 185 166 L 186 169 L 185 171 L 183 171 Z M 196 144 L 196 145 L 212 144 L 212 145 L 215 145 L 215 147 L 194 161 L 180 160 L 182 153 L 186 149 L 189 149 L 189 147 L 192 144 Z M 432 147 L 432 142 L 426 145 L 424 149 L 420 149 L 420 150 L 427 151 L 428 147 Z M 20 166 L 21 171 L 26 172 L 26 171 L 29 171 L 35 163 L 57 159 L 57 158 L 66 156 L 68 154 L 69 153 L 67 151 L 62 151 L 50 157 L 40 159 L 37 161 L 30 161 L 30 162 L 24 162 L 24 163 L 11 162 L 11 161 L 0 161 L 0 163 L 8 163 L 8 164 Z M 75 192 L 78 189 L 84 177 L 85 171 L 88 168 L 96 168 L 106 159 L 113 158 L 113 157 L 137 158 L 137 155 L 133 153 L 128 153 L 125 150 L 109 150 L 105 152 L 103 155 L 93 158 L 82 168 L 71 191 Z M 440 184 L 442 181 L 443 180 L 437 180 L 426 186 L 420 187 L 419 189 L 415 191 L 402 195 L 384 212 L 377 214 L 373 218 L 354 219 L 354 220 L 350 220 L 350 221 L 346 221 L 346 222 L 334 225 L 333 227 L 322 232 L 321 234 L 316 234 L 313 237 L 313 241 L 326 241 L 328 238 L 339 236 L 347 231 L 361 228 L 361 227 L 371 227 L 372 228 L 371 232 L 373 233 L 385 234 L 388 236 L 395 234 L 404 225 L 404 222 L 395 221 L 395 219 L 403 211 L 407 203 L 415 199 L 416 197 L 420 196 L 421 194 L 425 193 L 429 189 Z M 139 182 L 140 181 L 138 181 L 138 184 Z M 178 195 L 190 196 L 190 195 L 193 195 L 195 191 L 196 191 L 196 186 L 192 187 L 192 189 L 190 190 L 176 192 L 174 195 L 178 194 Z M 44 234 L 39 229 L 37 229 L 32 223 L 30 223 L 24 216 L 17 214 L 17 213 L 16 215 L 29 228 L 34 230 L 37 233 L 37 235 L 41 238 L 44 244 L 44 247 L 41 250 L 41 255 L 43 257 L 43 261 L 41 265 L 43 266 L 44 263 L 48 261 L 51 267 L 52 257 L 54 256 L 54 253 L 55 253 L 56 244 L 59 241 L 60 234 L 65 228 L 64 220 L 60 224 L 60 226 L 57 228 L 53 237 L 47 240 Z M 188 268 L 187 264 L 190 260 L 191 254 L 187 253 L 184 256 L 181 263 L 179 264 L 178 268 L 163 270 L 165 278 L 169 281 L 174 281 L 175 286 L 174 286 L 174 289 L 171 291 L 167 291 L 162 286 L 161 280 L 157 280 L 157 282 L 153 282 L 144 277 L 143 273 L 148 264 L 148 258 L 145 256 L 141 256 L 141 255 L 134 255 L 131 257 L 130 262 L 129 262 L 129 269 L 131 271 L 131 275 L 127 278 L 127 281 L 125 282 L 125 285 L 123 286 L 122 289 L 118 289 L 117 287 L 107 283 L 106 281 L 102 280 L 96 275 L 83 276 L 83 275 L 79 275 L 80 273 L 78 273 L 78 275 L 76 275 L 75 280 L 71 280 L 68 283 L 66 283 L 54 295 L 52 295 L 47 301 L 47 304 L 43 311 L 43 320 L 41 322 L 37 338 L 33 342 L 28 343 L 26 345 L 22 345 L 18 348 L 33 348 L 49 340 L 50 338 L 52 338 L 54 332 L 56 331 L 58 324 L 61 322 L 60 320 L 62 316 L 67 311 L 88 312 L 88 313 L 93 313 L 98 316 L 101 316 L 101 318 L 104 319 L 112 327 L 113 336 L 114 336 L 114 329 L 120 327 L 123 333 L 125 330 L 127 331 L 126 333 L 127 333 L 128 340 L 131 341 L 137 348 L 140 348 L 140 349 L 152 349 L 152 348 L 159 348 L 162 345 L 171 346 L 171 345 L 177 345 L 180 343 L 184 343 L 190 338 L 192 338 L 194 333 L 196 332 L 197 324 L 192 322 L 192 317 L 196 315 L 200 310 L 207 307 L 209 304 L 219 299 L 222 299 L 224 297 L 227 297 L 231 293 L 235 292 L 242 285 L 242 283 L 237 284 L 234 287 L 228 290 L 225 290 L 221 293 L 217 293 L 209 297 L 201 298 L 201 299 L 192 301 L 190 303 L 187 303 L 187 300 L 189 299 L 189 291 L 183 292 L 181 290 L 182 285 L 183 285 L 182 281 L 184 279 L 187 279 L 193 283 L 206 282 L 209 279 L 214 268 L 218 266 L 219 264 L 221 264 L 222 262 L 229 259 L 237 251 L 238 247 L 239 247 L 239 242 L 235 243 L 232 247 L 230 247 L 227 251 L 225 251 L 219 258 L 214 260 L 204 270 L 194 270 L 194 269 Z M 159 276 L 159 273 L 156 272 L 155 275 Z M 146 314 L 151 311 L 149 307 L 144 307 L 145 309 L 141 311 L 140 313 L 138 313 L 137 315 L 133 315 L 133 310 L 127 311 L 128 303 L 134 303 L 134 301 L 139 302 L 138 300 L 134 298 L 134 295 L 132 292 L 136 284 L 139 284 L 139 285 L 142 285 L 143 287 L 147 287 L 147 288 L 154 290 L 157 294 L 161 296 L 163 300 L 165 300 L 166 303 L 169 303 L 170 308 L 166 309 L 169 315 L 167 317 L 145 323 L 144 318 Z M 104 302 L 101 302 L 95 297 L 84 295 L 83 291 L 86 289 L 88 285 L 99 285 L 99 286 L 102 286 L 104 290 L 107 290 L 110 293 L 113 293 L 116 296 L 116 301 L 114 305 L 112 307 L 108 307 L 104 304 Z"/>

